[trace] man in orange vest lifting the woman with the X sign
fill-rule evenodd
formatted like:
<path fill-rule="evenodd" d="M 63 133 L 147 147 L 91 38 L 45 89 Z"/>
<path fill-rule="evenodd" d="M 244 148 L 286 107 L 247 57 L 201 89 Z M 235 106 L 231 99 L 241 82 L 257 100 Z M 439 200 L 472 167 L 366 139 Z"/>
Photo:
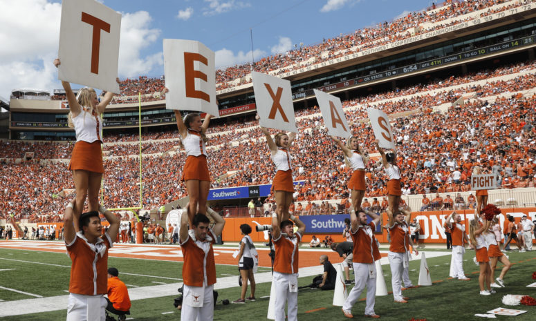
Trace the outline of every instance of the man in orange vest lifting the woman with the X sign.
<path fill-rule="evenodd" d="M 298 227 L 296 233 L 290 220 Z M 285 320 L 285 303 L 288 304 L 288 321 L 297 321 L 298 248 L 305 233 L 305 224 L 294 215 L 290 215 L 290 220 L 280 222 L 277 215 L 272 215 L 272 242 L 275 246 L 275 321 Z"/>

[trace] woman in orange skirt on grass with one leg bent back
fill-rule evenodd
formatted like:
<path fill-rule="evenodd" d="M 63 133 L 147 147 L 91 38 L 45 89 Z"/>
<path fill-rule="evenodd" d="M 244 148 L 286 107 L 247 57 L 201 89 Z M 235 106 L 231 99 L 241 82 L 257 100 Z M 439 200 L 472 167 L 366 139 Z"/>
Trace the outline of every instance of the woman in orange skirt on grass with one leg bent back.
<path fill-rule="evenodd" d="M 499 244 L 501 243 L 501 226 L 499 225 L 499 217 L 493 217 L 493 220 L 491 221 L 490 231 L 488 233 L 484 233 L 484 237 L 486 237 L 486 242 L 488 242 L 489 245 L 488 256 L 490 257 L 491 265 L 490 280 L 495 280 L 497 282 L 493 282 L 491 286 L 500 288 L 504 286 L 504 275 L 506 275 L 506 272 L 508 272 L 512 264 L 510 264 L 508 257 L 506 257 L 506 255 L 504 255 L 499 249 Z M 499 278 L 494 279 L 495 268 L 497 267 L 497 262 L 499 261 L 504 266 L 501 270 L 501 275 L 499 275 Z"/>

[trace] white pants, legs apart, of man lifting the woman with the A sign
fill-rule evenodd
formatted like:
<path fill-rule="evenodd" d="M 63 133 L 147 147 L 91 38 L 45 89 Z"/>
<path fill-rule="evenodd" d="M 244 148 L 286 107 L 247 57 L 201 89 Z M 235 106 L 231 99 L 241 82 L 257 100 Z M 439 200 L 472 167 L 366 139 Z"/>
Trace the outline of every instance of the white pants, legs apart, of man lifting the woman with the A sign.
<path fill-rule="evenodd" d="M 353 263 L 353 275 L 355 275 L 355 286 L 344 301 L 342 309 L 351 311 L 353 304 L 359 300 L 361 292 L 367 286 L 367 306 L 364 308 L 364 314 L 372 315 L 374 313 L 374 302 L 376 302 L 376 273 L 371 278 L 369 269 L 376 271 L 375 264 Z"/>

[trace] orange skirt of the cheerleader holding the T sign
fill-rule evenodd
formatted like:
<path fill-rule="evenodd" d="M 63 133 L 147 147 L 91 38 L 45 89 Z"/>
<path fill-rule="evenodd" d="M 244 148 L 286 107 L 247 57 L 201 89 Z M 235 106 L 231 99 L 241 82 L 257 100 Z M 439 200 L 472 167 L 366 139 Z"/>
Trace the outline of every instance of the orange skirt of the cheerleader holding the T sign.
<path fill-rule="evenodd" d="M 93 143 L 78 141 L 73 148 L 71 154 L 71 162 L 69 162 L 69 171 L 89 171 L 93 173 L 104 173 L 104 165 L 102 164 L 102 149 L 100 148 L 100 140 Z"/>

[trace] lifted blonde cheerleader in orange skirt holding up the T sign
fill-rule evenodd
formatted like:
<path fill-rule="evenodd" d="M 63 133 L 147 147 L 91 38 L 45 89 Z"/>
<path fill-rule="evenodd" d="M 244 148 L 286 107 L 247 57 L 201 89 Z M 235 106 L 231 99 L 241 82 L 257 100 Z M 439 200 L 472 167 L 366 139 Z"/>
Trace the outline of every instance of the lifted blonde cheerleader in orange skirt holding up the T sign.
<path fill-rule="evenodd" d="M 59 59 L 54 60 L 56 68 L 61 64 Z M 119 82 L 119 78 L 115 79 Z M 75 128 L 76 143 L 71 154 L 68 169 L 73 172 L 75 182 L 76 202 L 74 207 L 75 231 L 78 231 L 78 217 L 84 209 L 86 197 L 88 211 L 99 210 L 99 189 L 104 173 L 102 162 L 102 118 L 100 115 L 110 104 L 113 93 L 106 93 L 98 100 L 93 88 L 82 88 L 75 97 L 71 84 L 62 81 L 67 97 L 69 113 L 67 123 Z"/>

